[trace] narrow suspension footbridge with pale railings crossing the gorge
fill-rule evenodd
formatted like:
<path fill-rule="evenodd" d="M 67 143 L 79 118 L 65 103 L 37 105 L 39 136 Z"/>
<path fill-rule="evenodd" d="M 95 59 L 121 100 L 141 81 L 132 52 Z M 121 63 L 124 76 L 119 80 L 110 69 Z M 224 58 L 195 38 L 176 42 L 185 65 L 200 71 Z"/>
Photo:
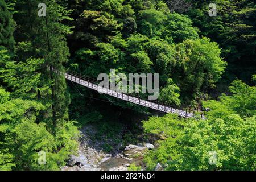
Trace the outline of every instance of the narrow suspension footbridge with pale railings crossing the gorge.
<path fill-rule="evenodd" d="M 59 72 L 56 69 L 54 69 L 54 71 Z M 86 88 L 96 90 L 99 93 L 107 94 L 109 96 L 118 98 L 120 100 L 131 102 L 133 104 L 141 105 L 144 107 L 148 107 L 150 109 L 162 111 L 164 113 L 174 113 L 183 118 L 193 118 L 193 117 L 196 117 L 196 115 L 197 115 L 197 114 L 195 114 L 195 112 L 196 112 L 195 110 L 191 111 L 191 109 L 189 109 L 189 110 L 188 109 L 186 109 L 186 110 L 175 109 L 173 107 L 159 104 L 157 102 L 143 100 L 141 98 L 133 97 L 128 94 L 115 92 L 114 90 L 111 90 L 109 88 L 104 88 L 102 86 L 98 86 L 97 82 L 95 82 L 94 79 L 92 79 L 92 78 L 82 77 L 82 76 L 77 75 L 76 73 L 65 72 L 64 76 L 69 81 L 72 81 L 72 82 L 75 82 L 76 84 L 85 86 Z M 201 119 L 206 119 L 205 116 L 203 115 L 203 113 L 201 113 L 200 116 L 201 116 Z"/>

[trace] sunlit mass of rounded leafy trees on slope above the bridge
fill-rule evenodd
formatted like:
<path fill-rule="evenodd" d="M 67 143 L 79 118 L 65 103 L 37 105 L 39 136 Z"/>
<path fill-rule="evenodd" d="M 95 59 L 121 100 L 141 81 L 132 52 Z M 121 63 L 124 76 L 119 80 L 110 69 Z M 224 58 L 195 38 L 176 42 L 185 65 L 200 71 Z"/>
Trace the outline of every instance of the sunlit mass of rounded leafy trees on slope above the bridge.
<path fill-rule="evenodd" d="M 70 62 L 78 65 L 76 71 L 90 77 L 113 68 L 126 75 L 159 73 L 162 96 L 180 90 L 180 95 L 161 98 L 175 105 L 200 100 L 202 91 L 214 88 L 226 67 L 221 49 L 207 38 L 199 39 L 188 16 L 170 13 L 162 1 L 113 2 L 78 3 L 84 10 L 80 6 L 74 12 L 75 37 L 82 42 L 72 45 L 75 57 Z M 120 15 L 124 7 L 133 13 Z"/>

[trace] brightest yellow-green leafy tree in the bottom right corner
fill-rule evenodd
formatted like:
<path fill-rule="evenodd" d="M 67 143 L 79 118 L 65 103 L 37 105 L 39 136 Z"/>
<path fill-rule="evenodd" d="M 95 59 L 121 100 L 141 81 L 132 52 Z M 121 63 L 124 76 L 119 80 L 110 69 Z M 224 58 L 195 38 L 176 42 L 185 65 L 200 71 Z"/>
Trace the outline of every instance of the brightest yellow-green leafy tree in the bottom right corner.
<path fill-rule="evenodd" d="M 255 117 L 242 119 L 236 114 L 191 122 L 180 138 L 184 142 L 181 157 L 171 161 L 168 169 L 255 170 L 255 129 Z M 210 151 L 217 154 L 213 165 Z"/>

